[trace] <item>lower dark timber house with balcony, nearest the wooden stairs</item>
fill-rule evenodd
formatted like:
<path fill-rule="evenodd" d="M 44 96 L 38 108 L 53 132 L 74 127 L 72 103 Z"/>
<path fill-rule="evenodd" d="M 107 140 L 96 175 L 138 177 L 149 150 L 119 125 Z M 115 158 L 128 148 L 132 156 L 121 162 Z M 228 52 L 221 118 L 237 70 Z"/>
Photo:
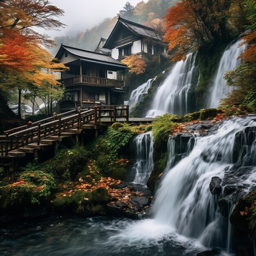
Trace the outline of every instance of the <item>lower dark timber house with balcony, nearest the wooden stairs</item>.
<path fill-rule="evenodd" d="M 126 65 L 107 54 L 61 45 L 55 58 L 70 70 L 61 72 L 65 96 L 61 111 L 124 104 Z"/>

